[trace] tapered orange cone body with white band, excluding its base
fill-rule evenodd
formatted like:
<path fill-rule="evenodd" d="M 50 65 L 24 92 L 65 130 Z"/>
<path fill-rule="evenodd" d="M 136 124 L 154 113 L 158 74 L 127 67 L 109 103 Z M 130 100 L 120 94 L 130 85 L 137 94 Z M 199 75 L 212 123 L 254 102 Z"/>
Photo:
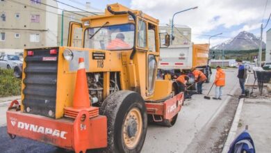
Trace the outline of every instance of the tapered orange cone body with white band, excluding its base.
<path fill-rule="evenodd" d="M 90 107 L 90 98 L 88 96 L 88 80 L 85 73 L 84 58 L 79 58 L 73 106 L 74 108 Z"/>

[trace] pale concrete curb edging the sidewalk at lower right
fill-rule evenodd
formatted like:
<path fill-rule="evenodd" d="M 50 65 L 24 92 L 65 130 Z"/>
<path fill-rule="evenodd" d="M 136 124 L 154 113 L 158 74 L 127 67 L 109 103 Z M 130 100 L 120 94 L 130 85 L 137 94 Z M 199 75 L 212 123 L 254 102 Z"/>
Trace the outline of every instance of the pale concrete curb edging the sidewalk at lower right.
<path fill-rule="evenodd" d="M 230 147 L 231 143 L 233 142 L 233 140 L 236 137 L 236 131 L 238 129 L 238 122 L 240 120 L 240 115 L 241 115 L 241 112 L 242 112 L 243 103 L 244 103 L 244 98 L 239 100 L 239 104 L 238 104 L 238 107 L 236 109 L 236 115 L 234 115 L 234 119 L 233 119 L 233 122 L 231 124 L 231 129 L 229 130 L 229 134 L 227 136 L 226 143 L 224 143 L 222 153 L 227 153 L 229 151 L 229 147 Z"/>

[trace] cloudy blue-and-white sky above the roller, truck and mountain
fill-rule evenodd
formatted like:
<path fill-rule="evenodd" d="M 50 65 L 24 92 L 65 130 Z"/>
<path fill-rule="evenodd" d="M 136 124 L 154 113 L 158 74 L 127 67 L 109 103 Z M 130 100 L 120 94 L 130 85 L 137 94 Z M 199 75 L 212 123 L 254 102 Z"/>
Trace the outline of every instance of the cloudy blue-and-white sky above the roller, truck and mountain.
<path fill-rule="evenodd" d="M 261 24 L 266 25 L 271 13 L 271 0 L 58 0 L 84 9 L 86 1 L 95 10 L 103 11 L 107 4 L 121 3 L 132 9 L 160 20 L 161 24 L 169 24 L 172 15 L 181 10 L 198 6 L 195 10 L 179 13 L 174 17 L 174 24 L 187 25 L 192 29 L 192 42 L 208 43 L 210 35 L 222 33 L 211 38 L 211 46 L 220 44 L 236 36 L 240 31 L 248 31 L 260 37 Z M 58 4 L 60 8 L 71 8 Z M 266 31 L 263 29 L 263 41 L 266 42 Z"/>

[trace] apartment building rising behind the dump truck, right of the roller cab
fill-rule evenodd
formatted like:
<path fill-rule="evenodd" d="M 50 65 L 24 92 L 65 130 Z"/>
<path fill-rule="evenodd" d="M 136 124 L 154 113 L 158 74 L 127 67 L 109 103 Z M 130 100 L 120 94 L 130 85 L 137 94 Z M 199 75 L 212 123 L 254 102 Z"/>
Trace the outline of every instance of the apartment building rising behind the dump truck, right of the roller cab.
<path fill-rule="evenodd" d="M 170 24 L 160 24 L 161 45 L 165 44 L 164 35 L 168 33 L 171 35 L 172 26 Z M 174 24 L 173 28 L 174 40 L 172 45 L 189 45 L 191 43 L 191 28 L 186 25 Z"/>

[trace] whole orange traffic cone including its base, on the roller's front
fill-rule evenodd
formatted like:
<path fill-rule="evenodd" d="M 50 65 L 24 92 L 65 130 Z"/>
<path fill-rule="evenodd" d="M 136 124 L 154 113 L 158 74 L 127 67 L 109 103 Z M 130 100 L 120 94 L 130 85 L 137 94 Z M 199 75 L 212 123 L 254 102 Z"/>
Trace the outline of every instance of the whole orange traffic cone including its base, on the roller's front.
<path fill-rule="evenodd" d="M 85 73 L 84 58 L 79 58 L 73 105 L 72 107 L 64 108 L 64 115 L 67 118 L 76 118 L 79 112 L 83 110 L 88 111 L 90 118 L 95 118 L 99 115 L 99 108 L 90 106 L 88 79 Z"/>

